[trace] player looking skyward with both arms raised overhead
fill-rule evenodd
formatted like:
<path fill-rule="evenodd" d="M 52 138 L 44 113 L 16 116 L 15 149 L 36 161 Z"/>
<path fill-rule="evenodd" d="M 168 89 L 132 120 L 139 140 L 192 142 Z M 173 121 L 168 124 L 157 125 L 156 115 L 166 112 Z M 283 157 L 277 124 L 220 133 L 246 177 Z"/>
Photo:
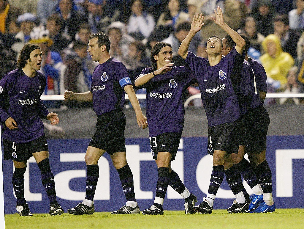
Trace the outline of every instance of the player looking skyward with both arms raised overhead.
<path fill-rule="evenodd" d="M 222 57 L 222 41 L 214 36 L 207 41 L 208 60 L 188 52 L 189 43 L 204 25 L 202 14 L 196 14 L 187 37 L 181 43 L 178 54 L 195 74 L 202 96 L 202 103 L 208 119 L 208 153 L 213 155 L 213 167 L 207 197 L 195 211 L 212 213 L 217 190 L 224 179 L 224 161 L 230 153 L 237 153 L 239 148 L 238 129 L 240 127 L 240 107 L 237 100 L 238 82 L 235 79 L 244 62 L 245 41 L 232 30 L 223 19 L 222 10 L 214 10 L 213 21 L 229 34 L 236 46 Z"/>

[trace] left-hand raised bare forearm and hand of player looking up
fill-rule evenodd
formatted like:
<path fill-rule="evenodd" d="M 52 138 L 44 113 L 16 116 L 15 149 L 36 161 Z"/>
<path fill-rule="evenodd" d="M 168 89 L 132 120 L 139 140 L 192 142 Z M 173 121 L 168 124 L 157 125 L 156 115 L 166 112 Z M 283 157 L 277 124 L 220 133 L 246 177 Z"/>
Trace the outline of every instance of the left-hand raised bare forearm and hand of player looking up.
<path fill-rule="evenodd" d="M 192 41 L 194 35 L 202 29 L 204 16 L 202 14 L 195 14 L 191 23 L 191 28 L 188 35 L 181 42 L 181 46 L 178 48 L 178 55 L 180 55 L 183 59 L 186 59 L 188 55 L 189 44 Z"/>

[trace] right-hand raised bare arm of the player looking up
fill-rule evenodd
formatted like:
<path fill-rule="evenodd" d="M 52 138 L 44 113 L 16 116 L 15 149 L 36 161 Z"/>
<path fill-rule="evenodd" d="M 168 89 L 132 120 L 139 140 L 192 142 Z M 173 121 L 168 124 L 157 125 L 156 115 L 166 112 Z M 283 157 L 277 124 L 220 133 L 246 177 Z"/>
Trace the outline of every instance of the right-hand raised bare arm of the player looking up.
<path fill-rule="evenodd" d="M 245 41 L 244 39 L 238 34 L 236 31 L 231 29 L 225 22 L 223 18 L 222 9 L 219 6 L 214 10 L 215 17 L 211 17 L 219 27 L 221 27 L 230 37 L 232 40 L 237 44 L 235 49 L 238 53 L 242 54 L 245 49 Z"/>

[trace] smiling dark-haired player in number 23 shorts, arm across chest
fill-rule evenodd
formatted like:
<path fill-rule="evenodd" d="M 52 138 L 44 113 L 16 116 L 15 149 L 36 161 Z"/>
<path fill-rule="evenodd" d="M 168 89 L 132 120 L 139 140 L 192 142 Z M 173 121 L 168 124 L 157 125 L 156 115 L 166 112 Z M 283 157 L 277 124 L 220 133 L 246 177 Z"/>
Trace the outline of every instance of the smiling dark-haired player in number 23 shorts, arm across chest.
<path fill-rule="evenodd" d="M 154 203 L 143 210 L 144 215 L 164 214 L 163 203 L 168 185 L 185 199 L 186 214 L 194 213 L 197 201 L 171 168 L 184 127 L 184 93 L 190 84 L 195 83 L 191 71 L 185 66 L 174 66 L 172 58 L 171 44 L 158 42 L 151 50 L 152 66 L 143 69 L 134 83 L 136 87 L 147 89 L 150 147 L 158 171 Z"/>

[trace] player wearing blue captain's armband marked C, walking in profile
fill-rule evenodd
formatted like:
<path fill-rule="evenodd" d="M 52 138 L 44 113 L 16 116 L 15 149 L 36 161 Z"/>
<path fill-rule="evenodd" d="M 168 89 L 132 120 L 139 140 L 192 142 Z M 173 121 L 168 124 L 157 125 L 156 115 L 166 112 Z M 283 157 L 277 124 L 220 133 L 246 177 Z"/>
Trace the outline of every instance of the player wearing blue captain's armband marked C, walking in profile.
<path fill-rule="evenodd" d="M 127 200 L 126 205 L 111 214 L 140 213 L 134 193 L 133 174 L 126 161 L 124 136 L 126 116 L 122 111 L 125 92 L 135 110 L 139 127 L 143 129 L 147 127 L 147 118 L 141 112 L 126 67 L 112 58 L 109 50 L 110 40 L 107 35 L 102 32 L 90 35 L 88 52 L 93 61 L 99 62 L 93 72 L 91 91 L 64 92 L 66 100 L 93 101 L 93 110 L 98 116 L 95 134 L 85 154 L 87 165 L 85 199 L 76 207 L 67 210 L 73 215 L 94 213 L 93 199 L 99 177 L 98 160 L 105 152 L 110 155 L 117 169 Z"/>

